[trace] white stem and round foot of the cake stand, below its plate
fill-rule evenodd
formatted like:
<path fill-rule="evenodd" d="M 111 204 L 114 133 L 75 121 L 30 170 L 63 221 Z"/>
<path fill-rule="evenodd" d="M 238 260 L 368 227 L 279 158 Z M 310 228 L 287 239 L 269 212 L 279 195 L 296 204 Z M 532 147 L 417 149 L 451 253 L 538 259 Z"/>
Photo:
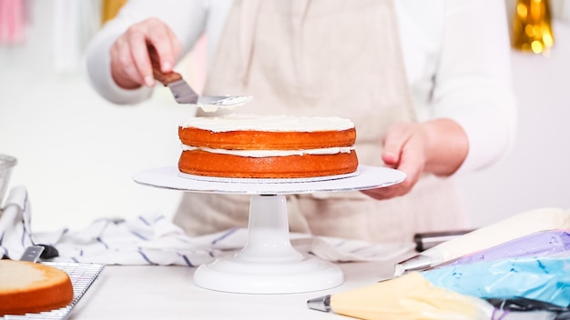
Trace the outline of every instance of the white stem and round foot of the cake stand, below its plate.
<path fill-rule="evenodd" d="M 200 265 L 194 283 L 241 294 L 293 294 L 341 285 L 341 268 L 290 245 L 284 195 L 253 195 L 248 242 L 239 253 Z"/>

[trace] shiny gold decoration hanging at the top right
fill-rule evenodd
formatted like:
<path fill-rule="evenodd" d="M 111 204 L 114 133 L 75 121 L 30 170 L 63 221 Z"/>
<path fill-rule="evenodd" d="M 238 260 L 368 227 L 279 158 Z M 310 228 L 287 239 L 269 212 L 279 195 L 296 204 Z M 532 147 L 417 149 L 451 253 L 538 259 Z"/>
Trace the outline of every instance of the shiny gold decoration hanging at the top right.
<path fill-rule="evenodd" d="M 514 49 L 547 54 L 555 44 L 549 0 L 517 0 L 513 19 Z"/>

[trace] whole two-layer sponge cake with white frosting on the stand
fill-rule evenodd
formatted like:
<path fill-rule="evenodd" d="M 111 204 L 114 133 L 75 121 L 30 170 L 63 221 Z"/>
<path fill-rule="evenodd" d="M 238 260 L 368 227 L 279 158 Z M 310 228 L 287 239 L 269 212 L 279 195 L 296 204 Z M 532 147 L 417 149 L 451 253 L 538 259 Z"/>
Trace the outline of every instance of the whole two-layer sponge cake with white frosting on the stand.
<path fill-rule="evenodd" d="M 179 125 L 180 172 L 233 178 L 302 178 L 356 171 L 356 129 L 340 117 L 225 115 Z"/>

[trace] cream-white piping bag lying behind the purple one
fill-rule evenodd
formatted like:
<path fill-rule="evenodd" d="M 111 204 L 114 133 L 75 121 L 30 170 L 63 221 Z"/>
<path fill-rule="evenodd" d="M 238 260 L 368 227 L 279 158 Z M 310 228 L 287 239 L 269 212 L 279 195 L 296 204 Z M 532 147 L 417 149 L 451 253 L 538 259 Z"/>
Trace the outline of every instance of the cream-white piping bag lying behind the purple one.
<path fill-rule="evenodd" d="M 560 208 L 542 208 L 513 215 L 435 245 L 419 255 L 414 255 L 394 265 L 394 276 L 403 275 L 408 271 L 426 270 L 524 235 L 553 229 L 570 229 L 570 211 Z"/>

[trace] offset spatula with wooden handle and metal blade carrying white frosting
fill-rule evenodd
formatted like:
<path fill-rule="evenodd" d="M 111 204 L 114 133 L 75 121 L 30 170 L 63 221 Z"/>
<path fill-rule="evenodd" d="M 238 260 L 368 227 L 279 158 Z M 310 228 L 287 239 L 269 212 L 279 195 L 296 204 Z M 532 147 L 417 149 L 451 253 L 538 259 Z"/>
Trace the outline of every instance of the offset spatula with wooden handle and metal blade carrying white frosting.
<path fill-rule="evenodd" d="M 178 104 L 198 105 L 204 111 L 215 111 L 219 107 L 244 105 L 253 97 L 251 95 L 198 95 L 177 72 L 164 73 L 160 70 L 157 51 L 148 45 L 148 56 L 152 65 L 152 73 L 162 85 L 168 86 Z M 212 109 L 213 107 L 213 109 Z"/>

